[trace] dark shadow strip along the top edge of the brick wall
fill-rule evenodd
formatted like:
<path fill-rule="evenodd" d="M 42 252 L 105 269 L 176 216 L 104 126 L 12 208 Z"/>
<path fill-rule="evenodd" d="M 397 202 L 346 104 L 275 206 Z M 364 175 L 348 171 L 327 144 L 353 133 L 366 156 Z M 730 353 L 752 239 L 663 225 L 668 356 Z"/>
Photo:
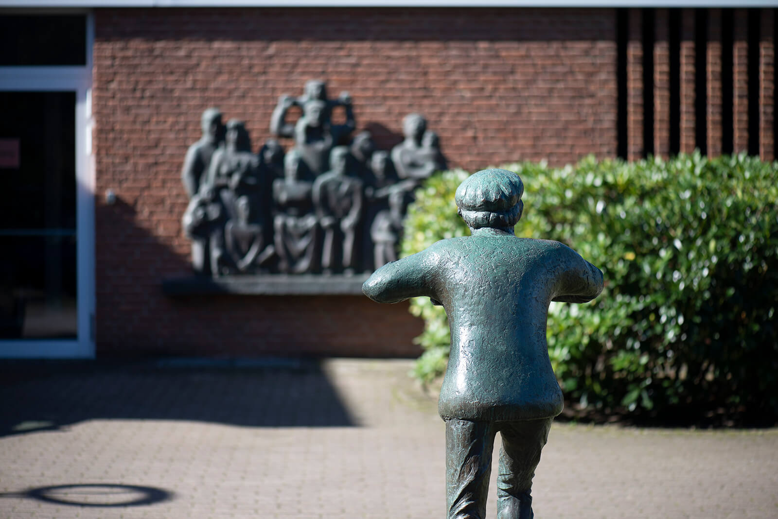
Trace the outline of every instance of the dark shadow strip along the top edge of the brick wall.
<path fill-rule="evenodd" d="M 590 20 L 608 17 L 613 9 L 469 7 L 342 7 L 288 9 L 204 8 L 166 9 L 160 21 L 156 9 L 137 9 L 142 24 L 127 24 L 118 9 L 102 9 L 97 37 L 142 37 L 175 40 L 316 40 L 342 41 L 572 41 L 599 40 L 601 30 Z M 359 19 L 359 23 L 355 23 Z M 236 23 L 239 20 L 239 23 Z M 110 23 L 110 33 L 103 28 Z"/>

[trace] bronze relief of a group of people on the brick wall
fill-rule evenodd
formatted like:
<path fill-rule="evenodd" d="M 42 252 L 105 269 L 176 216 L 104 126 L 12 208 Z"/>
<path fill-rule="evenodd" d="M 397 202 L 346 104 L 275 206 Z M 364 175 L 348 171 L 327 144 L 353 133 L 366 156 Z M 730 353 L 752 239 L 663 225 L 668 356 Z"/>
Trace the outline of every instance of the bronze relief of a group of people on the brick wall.
<path fill-rule="evenodd" d="M 293 109 L 300 117 L 289 122 Z M 181 172 L 184 232 L 204 275 L 370 272 L 396 258 L 413 190 L 445 168 L 421 115 L 405 118 L 405 141 L 389 155 L 368 131 L 352 138 L 351 96 L 330 99 L 317 80 L 303 96 L 281 96 L 272 113 L 271 133 L 293 139 L 286 153 L 275 138 L 254 153 L 245 124 L 222 117 L 202 114 L 203 136 Z"/>

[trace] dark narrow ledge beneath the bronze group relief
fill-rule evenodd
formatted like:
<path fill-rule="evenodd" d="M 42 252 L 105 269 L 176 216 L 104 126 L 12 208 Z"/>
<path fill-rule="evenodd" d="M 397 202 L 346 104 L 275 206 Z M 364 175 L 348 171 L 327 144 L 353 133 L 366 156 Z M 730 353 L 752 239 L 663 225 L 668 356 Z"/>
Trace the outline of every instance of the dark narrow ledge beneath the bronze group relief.
<path fill-rule="evenodd" d="M 163 280 L 162 291 L 173 297 L 197 294 L 356 295 L 362 294 L 362 284 L 367 277 L 368 274 L 189 276 Z"/>

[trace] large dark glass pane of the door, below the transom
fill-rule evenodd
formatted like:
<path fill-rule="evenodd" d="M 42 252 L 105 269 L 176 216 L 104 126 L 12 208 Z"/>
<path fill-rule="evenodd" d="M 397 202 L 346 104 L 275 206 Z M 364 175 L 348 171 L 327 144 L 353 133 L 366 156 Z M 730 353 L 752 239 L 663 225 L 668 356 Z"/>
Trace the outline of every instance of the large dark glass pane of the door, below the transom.
<path fill-rule="evenodd" d="M 75 92 L 0 106 L 0 339 L 74 339 Z"/>

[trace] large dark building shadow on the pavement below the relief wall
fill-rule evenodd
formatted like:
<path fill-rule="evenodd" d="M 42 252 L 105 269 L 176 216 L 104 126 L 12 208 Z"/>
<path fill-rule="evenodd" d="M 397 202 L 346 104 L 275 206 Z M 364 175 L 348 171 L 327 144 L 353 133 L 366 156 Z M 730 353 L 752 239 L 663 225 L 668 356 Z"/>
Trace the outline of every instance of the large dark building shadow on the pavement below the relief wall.
<path fill-rule="evenodd" d="M 317 361 L 0 363 L 0 436 L 93 419 L 358 425 Z"/>

